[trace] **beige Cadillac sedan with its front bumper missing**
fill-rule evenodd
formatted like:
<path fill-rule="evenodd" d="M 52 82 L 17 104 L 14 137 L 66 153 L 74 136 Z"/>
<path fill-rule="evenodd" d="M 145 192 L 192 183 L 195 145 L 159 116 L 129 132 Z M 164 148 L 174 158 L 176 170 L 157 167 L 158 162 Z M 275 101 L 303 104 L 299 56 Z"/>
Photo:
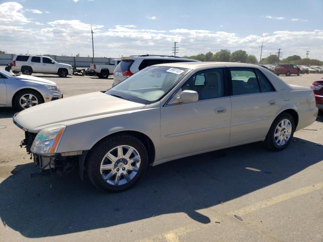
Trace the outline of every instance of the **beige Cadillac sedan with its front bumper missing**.
<path fill-rule="evenodd" d="M 106 92 L 37 105 L 13 119 L 42 171 L 78 167 L 96 188 L 121 191 L 148 165 L 258 141 L 283 150 L 316 114 L 311 89 L 262 67 L 194 62 L 147 67 Z"/>

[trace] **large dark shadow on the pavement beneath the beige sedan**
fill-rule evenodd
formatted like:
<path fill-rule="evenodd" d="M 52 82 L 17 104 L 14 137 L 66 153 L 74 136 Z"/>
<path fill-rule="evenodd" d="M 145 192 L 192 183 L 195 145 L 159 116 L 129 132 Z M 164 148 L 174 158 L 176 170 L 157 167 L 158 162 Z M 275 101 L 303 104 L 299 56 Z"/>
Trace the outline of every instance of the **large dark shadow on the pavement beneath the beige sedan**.
<path fill-rule="evenodd" d="M 210 219 L 196 210 L 278 183 L 321 161 L 322 147 L 294 138 L 281 152 L 260 143 L 209 152 L 150 167 L 134 188 L 116 194 L 95 190 L 76 172 L 29 178 L 33 163 L 17 165 L 0 184 L 0 217 L 5 226 L 30 238 L 178 212 L 206 224 Z"/>

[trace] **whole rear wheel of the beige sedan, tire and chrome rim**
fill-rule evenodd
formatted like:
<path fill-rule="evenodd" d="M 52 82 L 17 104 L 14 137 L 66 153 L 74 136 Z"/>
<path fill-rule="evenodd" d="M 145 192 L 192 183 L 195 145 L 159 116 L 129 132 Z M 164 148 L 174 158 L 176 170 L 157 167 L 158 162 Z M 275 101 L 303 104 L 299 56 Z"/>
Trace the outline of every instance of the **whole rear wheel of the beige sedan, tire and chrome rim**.
<path fill-rule="evenodd" d="M 285 149 L 291 142 L 295 131 L 294 118 L 289 113 L 282 113 L 274 120 L 266 139 L 266 147 L 273 151 Z"/>

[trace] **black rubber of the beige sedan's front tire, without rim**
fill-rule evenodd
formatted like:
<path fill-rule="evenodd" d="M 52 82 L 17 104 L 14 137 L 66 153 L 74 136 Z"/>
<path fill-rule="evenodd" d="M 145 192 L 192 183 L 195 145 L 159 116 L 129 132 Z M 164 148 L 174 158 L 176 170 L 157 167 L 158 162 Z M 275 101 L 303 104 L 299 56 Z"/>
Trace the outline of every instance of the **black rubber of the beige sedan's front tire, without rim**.
<path fill-rule="evenodd" d="M 100 166 L 105 155 L 109 151 L 121 145 L 131 146 L 138 152 L 140 156 L 140 166 L 135 176 L 126 184 L 111 185 L 111 184 L 108 184 L 103 179 L 101 175 Z M 136 184 L 139 181 L 139 179 L 144 175 L 147 169 L 147 166 L 148 166 L 148 154 L 145 146 L 136 137 L 132 135 L 127 135 L 127 134 L 115 135 L 115 136 L 111 136 L 103 139 L 90 150 L 86 158 L 86 169 L 87 169 L 88 177 L 91 183 L 94 185 L 94 187 L 96 187 L 97 189 L 103 192 L 120 192 L 130 188 L 131 186 Z M 117 172 L 116 169 L 118 168 L 118 166 L 115 166 L 115 167 L 116 168 L 112 169 L 111 171 Z M 115 177 L 115 176 L 113 175 L 112 177 Z M 124 176 L 123 178 L 125 179 Z"/>

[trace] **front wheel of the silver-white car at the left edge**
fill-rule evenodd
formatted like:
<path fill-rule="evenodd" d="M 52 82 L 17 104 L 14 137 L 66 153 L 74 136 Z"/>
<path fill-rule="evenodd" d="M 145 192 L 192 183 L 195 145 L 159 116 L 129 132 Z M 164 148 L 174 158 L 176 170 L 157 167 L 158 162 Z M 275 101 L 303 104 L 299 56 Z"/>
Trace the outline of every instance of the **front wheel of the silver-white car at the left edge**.
<path fill-rule="evenodd" d="M 14 107 L 23 110 L 42 103 L 40 94 L 34 90 L 22 90 L 15 95 Z"/>

